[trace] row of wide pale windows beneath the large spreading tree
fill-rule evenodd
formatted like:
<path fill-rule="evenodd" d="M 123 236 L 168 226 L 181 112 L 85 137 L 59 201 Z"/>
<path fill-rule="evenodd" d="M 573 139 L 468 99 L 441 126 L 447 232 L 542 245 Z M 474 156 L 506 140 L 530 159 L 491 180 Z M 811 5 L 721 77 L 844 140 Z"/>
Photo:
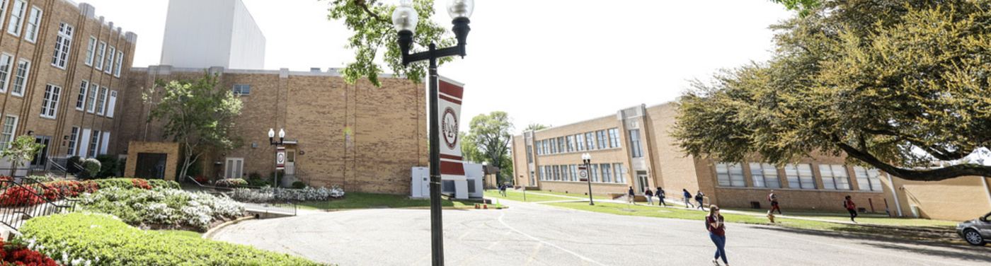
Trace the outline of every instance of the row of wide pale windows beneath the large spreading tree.
<path fill-rule="evenodd" d="M 781 188 L 781 179 L 778 177 L 778 168 L 768 163 L 749 163 L 750 178 L 753 186 L 758 188 Z M 813 175 L 812 164 L 788 164 L 783 167 L 788 182 L 788 187 L 792 189 L 820 189 L 818 188 Z M 853 172 L 861 191 L 881 191 L 881 178 L 877 169 L 865 169 L 854 166 Z M 820 164 L 820 177 L 823 181 L 823 188 L 826 190 L 852 190 L 850 179 L 846 172 L 846 167 L 839 164 Z M 740 164 L 716 164 L 716 181 L 720 187 L 746 187 L 746 177 L 743 174 L 743 166 Z"/>

